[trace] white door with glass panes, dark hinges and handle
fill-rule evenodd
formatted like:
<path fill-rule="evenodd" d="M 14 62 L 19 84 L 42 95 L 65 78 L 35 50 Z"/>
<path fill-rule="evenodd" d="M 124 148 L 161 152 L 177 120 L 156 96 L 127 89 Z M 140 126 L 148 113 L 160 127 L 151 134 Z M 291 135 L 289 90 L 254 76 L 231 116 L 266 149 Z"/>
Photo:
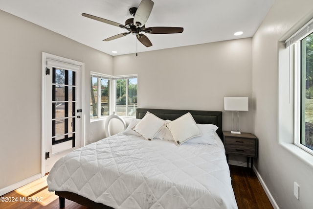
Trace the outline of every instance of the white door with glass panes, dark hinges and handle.
<path fill-rule="evenodd" d="M 46 58 L 45 171 L 83 145 L 82 66 Z"/>

